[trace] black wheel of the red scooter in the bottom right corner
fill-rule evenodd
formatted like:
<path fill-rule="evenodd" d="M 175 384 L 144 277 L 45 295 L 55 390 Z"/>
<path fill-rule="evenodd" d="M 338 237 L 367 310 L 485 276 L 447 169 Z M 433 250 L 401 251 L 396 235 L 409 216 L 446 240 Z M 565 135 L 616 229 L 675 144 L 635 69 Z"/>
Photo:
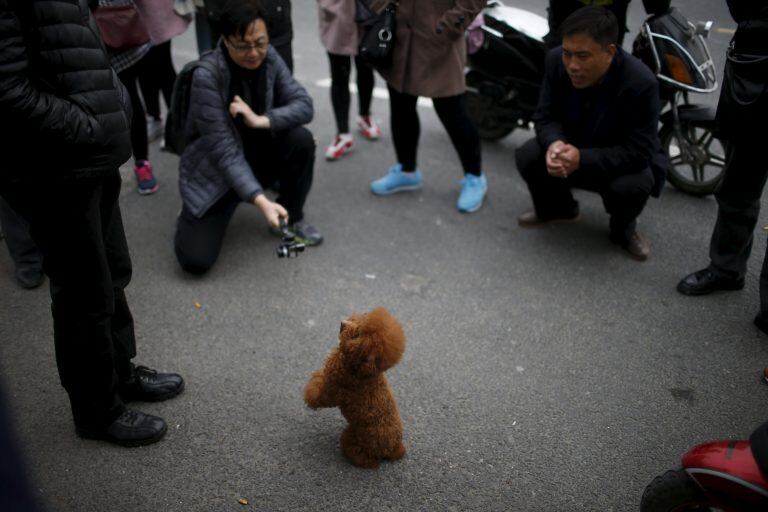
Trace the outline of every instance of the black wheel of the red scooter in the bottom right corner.
<path fill-rule="evenodd" d="M 712 510 L 704 494 L 682 469 L 654 478 L 643 492 L 641 512 L 705 512 Z"/>

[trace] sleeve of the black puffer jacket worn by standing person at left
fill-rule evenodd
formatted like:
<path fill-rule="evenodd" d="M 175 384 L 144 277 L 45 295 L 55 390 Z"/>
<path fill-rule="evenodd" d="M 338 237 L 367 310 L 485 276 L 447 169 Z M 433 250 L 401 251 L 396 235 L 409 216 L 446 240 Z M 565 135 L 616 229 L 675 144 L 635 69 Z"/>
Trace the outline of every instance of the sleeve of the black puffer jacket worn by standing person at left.
<path fill-rule="evenodd" d="M 64 27 L 61 27 L 62 29 Z M 55 30 L 55 27 L 46 27 Z M 28 74 L 21 27 L 15 14 L 0 11 L 0 112 L 16 130 L 73 145 L 103 138 L 95 117 L 79 105 L 42 90 Z"/>

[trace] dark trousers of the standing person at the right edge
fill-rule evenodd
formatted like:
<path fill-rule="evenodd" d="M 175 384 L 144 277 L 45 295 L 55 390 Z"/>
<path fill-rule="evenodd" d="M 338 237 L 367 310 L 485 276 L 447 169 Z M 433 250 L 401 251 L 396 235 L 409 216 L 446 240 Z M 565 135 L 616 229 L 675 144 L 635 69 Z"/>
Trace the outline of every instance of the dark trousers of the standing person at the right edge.
<path fill-rule="evenodd" d="M 764 143 L 764 142 L 763 142 Z M 768 163 L 758 141 L 730 142 L 725 148 L 725 172 L 715 198 L 717 221 L 709 245 L 710 268 L 720 277 L 743 279 L 760 213 Z M 768 315 L 768 262 L 760 275 L 762 311 Z"/>

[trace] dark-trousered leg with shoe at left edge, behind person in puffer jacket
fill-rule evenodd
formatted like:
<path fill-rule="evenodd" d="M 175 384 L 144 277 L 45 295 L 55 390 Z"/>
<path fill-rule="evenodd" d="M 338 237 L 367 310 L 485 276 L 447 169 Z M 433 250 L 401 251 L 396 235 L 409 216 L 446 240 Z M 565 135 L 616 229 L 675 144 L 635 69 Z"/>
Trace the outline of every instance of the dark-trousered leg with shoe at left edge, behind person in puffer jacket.
<path fill-rule="evenodd" d="M 16 268 L 16 280 L 27 289 L 43 284 L 43 255 L 29 235 L 29 224 L 2 199 L 0 226 Z"/>

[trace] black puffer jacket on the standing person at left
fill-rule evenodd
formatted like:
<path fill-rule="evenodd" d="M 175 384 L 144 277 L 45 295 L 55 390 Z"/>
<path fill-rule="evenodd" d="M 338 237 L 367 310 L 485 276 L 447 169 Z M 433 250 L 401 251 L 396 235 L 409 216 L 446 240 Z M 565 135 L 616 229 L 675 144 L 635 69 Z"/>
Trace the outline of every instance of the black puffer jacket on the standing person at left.
<path fill-rule="evenodd" d="M 87 0 L 0 0 L 0 178 L 115 172 L 128 105 Z"/>

